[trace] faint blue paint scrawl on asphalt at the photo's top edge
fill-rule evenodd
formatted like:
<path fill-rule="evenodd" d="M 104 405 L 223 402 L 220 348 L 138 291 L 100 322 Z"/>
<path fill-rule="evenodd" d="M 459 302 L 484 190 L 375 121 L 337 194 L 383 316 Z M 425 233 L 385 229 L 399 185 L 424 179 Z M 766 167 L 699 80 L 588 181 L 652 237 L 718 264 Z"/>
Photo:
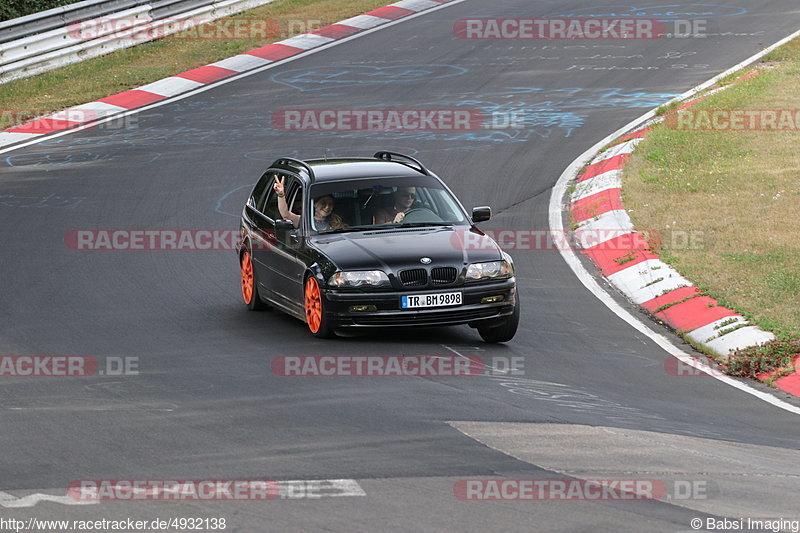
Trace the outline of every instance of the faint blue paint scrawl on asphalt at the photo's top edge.
<path fill-rule="evenodd" d="M 668 4 L 651 7 L 595 6 L 555 15 L 564 18 L 650 18 L 657 20 L 694 20 L 737 17 L 748 11 L 743 7 L 720 4 Z"/>

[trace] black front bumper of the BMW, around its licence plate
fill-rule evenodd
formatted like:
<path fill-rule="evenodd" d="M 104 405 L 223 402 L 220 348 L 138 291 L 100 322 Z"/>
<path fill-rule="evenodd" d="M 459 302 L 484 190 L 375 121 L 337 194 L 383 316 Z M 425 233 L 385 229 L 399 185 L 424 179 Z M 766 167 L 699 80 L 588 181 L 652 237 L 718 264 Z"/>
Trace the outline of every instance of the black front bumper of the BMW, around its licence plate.
<path fill-rule="evenodd" d="M 401 309 L 402 296 L 461 292 L 462 304 L 430 309 Z M 489 325 L 514 312 L 516 280 L 393 292 L 323 291 L 325 317 L 334 328 L 381 328 L 409 326 Z M 502 301 L 481 303 L 483 298 L 503 296 Z M 371 305 L 376 310 L 353 311 L 353 306 Z"/>

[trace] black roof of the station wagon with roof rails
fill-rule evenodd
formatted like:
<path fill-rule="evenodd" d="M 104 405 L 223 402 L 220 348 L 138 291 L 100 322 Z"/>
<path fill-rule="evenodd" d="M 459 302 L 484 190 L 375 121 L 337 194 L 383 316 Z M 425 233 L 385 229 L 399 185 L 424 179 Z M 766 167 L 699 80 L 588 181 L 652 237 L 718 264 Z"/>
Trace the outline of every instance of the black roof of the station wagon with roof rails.
<path fill-rule="evenodd" d="M 282 158 L 275 161 L 272 167 L 286 168 L 307 181 L 315 183 L 345 178 L 430 175 L 428 169 L 416 159 L 389 152 L 378 152 L 375 157 L 306 159 L 305 161 Z"/>

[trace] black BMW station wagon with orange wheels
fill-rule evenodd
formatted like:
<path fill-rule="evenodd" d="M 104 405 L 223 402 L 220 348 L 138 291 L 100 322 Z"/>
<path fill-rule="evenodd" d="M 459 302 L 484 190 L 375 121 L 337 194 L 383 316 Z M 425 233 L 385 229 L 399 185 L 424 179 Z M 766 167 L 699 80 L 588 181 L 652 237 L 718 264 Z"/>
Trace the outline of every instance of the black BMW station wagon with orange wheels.
<path fill-rule="evenodd" d="M 317 337 L 337 330 L 468 324 L 506 342 L 519 324 L 511 257 L 416 159 L 283 157 L 242 211 L 242 296 L 297 317 Z"/>

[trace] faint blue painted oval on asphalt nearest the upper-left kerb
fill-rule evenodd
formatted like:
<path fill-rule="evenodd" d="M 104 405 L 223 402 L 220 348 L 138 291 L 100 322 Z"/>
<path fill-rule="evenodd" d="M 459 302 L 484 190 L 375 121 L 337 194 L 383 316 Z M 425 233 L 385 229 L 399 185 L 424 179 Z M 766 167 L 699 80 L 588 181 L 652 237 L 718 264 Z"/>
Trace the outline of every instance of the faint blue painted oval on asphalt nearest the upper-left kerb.
<path fill-rule="evenodd" d="M 329 66 L 287 70 L 273 74 L 270 80 L 299 91 L 318 91 L 333 87 L 384 85 L 387 83 L 429 81 L 452 78 L 468 70 L 455 65 L 407 65 L 369 67 L 364 65 Z"/>

